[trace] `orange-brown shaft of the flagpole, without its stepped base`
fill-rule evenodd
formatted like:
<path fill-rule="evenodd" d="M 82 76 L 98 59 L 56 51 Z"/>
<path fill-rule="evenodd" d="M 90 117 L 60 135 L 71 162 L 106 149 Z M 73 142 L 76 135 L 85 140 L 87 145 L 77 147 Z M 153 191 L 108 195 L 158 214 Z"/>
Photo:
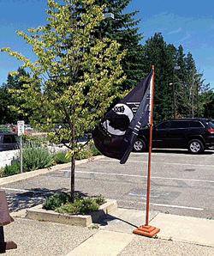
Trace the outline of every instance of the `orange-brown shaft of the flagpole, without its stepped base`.
<path fill-rule="evenodd" d="M 153 125 L 153 91 L 154 91 L 154 66 L 152 66 L 152 107 L 150 120 L 150 143 L 149 143 L 149 162 L 147 177 L 147 198 L 146 198 L 146 226 L 149 225 L 149 204 L 150 204 L 150 180 L 151 180 L 151 162 L 152 162 L 152 125 Z"/>

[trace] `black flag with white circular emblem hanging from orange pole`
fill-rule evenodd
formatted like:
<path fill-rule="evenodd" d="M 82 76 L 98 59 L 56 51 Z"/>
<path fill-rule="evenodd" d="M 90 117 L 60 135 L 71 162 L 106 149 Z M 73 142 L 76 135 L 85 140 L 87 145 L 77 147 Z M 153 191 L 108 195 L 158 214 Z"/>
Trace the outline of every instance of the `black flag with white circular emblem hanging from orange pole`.
<path fill-rule="evenodd" d="M 97 149 L 122 164 L 128 160 L 140 127 L 150 124 L 152 75 L 153 70 L 92 131 Z"/>

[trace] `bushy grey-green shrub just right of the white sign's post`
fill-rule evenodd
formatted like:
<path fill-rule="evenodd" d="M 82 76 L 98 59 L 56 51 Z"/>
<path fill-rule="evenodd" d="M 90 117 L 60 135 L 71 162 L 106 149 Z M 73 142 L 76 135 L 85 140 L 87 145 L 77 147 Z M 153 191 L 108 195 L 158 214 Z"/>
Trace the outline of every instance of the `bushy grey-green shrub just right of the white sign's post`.
<path fill-rule="evenodd" d="M 47 148 L 31 143 L 25 145 L 22 150 L 22 162 L 23 172 L 30 172 L 40 168 L 51 167 L 54 162 L 54 156 Z"/>

